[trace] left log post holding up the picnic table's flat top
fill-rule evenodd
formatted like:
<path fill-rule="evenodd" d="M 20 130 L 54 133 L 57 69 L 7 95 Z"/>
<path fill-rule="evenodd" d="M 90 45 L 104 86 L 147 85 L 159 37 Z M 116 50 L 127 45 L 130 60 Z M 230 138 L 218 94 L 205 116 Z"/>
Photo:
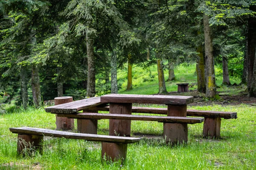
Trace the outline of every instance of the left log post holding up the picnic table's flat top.
<path fill-rule="evenodd" d="M 131 114 L 132 103 L 110 103 L 109 113 Z M 131 120 L 109 120 L 110 136 L 131 136 Z"/>

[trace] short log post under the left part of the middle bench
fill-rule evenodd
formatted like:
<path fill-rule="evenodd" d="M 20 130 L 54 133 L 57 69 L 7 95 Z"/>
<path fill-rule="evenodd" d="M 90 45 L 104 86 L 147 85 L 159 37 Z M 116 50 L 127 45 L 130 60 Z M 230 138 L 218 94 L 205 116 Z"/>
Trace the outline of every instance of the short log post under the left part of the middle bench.
<path fill-rule="evenodd" d="M 84 113 L 98 113 L 98 111 L 83 110 Z M 77 132 L 97 134 L 98 120 L 77 119 Z"/>

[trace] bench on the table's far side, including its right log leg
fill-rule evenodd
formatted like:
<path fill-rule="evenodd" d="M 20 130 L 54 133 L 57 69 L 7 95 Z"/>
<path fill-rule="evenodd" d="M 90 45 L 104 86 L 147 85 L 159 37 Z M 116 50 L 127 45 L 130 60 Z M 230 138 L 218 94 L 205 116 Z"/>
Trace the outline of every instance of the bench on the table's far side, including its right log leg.
<path fill-rule="evenodd" d="M 90 111 L 109 111 L 108 105 L 100 105 L 89 108 Z M 132 107 L 132 113 L 152 113 L 152 114 L 167 114 L 167 108 L 146 108 Z M 219 138 L 221 136 L 221 118 L 236 119 L 236 112 L 222 111 L 198 111 L 187 110 L 187 116 L 204 117 L 204 137 Z"/>

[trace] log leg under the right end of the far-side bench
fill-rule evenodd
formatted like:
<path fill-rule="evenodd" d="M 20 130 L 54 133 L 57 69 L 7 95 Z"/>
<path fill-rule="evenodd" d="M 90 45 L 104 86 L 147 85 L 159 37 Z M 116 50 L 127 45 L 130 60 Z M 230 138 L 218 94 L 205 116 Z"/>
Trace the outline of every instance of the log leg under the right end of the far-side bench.
<path fill-rule="evenodd" d="M 220 138 L 221 137 L 221 118 L 204 118 L 204 137 Z"/>

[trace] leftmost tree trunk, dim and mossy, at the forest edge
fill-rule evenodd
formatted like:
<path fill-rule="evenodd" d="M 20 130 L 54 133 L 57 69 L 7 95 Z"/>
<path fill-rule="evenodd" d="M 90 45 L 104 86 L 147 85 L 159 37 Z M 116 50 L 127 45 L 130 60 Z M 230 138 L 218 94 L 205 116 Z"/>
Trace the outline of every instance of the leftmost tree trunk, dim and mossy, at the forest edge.
<path fill-rule="evenodd" d="M 29 84 L 29 71 L 26 66 L 20 67 L 20 91 L 23 108 L 26 108 L 29 103 L 28 84 Z"/>

